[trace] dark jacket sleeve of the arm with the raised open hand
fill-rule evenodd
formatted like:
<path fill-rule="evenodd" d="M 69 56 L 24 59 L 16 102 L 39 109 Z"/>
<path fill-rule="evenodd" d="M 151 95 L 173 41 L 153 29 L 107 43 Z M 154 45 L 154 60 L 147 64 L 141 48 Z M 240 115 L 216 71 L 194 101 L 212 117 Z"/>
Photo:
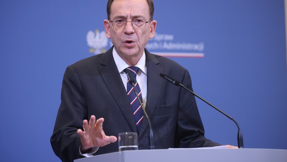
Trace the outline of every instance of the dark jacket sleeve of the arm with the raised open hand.
<path fill-rule="evenodd" d="M 84 119 L 88 119 L 86 110 L 81 82 L 74 68 L 69 66 L 64 74 L 61 104 L 50 140 L 54 153 L 63 162 L 81 158 L 77 129 L 82 128 Z"/>

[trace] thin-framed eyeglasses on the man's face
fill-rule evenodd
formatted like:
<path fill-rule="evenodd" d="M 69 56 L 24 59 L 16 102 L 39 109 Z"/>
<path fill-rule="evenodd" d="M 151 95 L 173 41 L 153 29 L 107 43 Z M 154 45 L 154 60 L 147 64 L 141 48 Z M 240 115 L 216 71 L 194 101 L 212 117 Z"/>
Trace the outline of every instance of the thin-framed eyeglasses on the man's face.
<path fill-rule="evenodd" d="M 144 19 L 133 19 L 130 21 L 132 23 L 132 26 L 136 29 L 144 29 L 146 26 L 146 23 L 150 22 L 152 19 L 149 21 L 145 21 Z M 113 19 L 112 21 L 109 20 L 109 22 L 112 23 L 112 26 L 115 28 L 124 28 L 127 25 L 127 20 L 125 19 Z"/>

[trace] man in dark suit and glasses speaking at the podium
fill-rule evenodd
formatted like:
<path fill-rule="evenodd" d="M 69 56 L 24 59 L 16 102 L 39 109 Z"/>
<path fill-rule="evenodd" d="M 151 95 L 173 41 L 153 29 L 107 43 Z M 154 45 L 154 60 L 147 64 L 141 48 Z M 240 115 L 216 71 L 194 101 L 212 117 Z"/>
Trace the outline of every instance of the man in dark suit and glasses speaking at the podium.
<path fill-rule="evenodd" d="M 148 149 L 147 120 L 143 118 L 137 128 L 127 95 L 124 71 L 134 66 L 140 68 L 136 80 L 153 128 L 155 149 L 219 145 L 205 138 L 194 96 L 159 75 L 173 76 L 192 89 L 188 71 L 144 48 L 155 34 L 153 10 L 152 0 L 108 0 L 104 27 L 114 46 L 67 68 L 51 137 L 62 161 L 116 152 L 120 132 L 138 132 L 139 149 Z"/>

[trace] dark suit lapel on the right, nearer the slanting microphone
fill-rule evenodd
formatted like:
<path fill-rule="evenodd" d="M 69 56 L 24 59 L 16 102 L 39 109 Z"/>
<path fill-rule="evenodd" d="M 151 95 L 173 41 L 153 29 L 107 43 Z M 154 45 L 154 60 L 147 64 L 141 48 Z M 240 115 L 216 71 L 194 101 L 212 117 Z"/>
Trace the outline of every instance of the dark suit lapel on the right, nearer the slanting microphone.
<path fill-rule="evenodd" d="M 145 111 L 151 120 L 154 108 L 159 100 L 162 79 L 160 78 L 160 73 L 163 72 L 162 67 L 157 66 L 159 61 L 150 54 L 147 50 L 145 50 L 146 55 L 146 67 L 147 67 L 147 99 Z M 152 126 L 152 125 L 151 125 Z M 144 118 L 141 130 L 139 133 L 139 138 L 144 133 L 144 130 L 149 127 L 146 118 Z"/>

